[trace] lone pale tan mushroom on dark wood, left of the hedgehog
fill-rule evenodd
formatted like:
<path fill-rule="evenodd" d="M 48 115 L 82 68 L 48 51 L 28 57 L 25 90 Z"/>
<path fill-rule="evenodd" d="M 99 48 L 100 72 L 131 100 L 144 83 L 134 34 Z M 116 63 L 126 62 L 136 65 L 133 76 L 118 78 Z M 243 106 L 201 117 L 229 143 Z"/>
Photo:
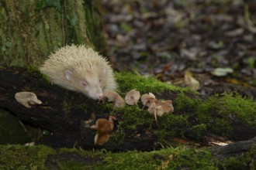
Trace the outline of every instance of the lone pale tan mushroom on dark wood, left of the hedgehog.
<path fill-rule="evenodd" d="M 18 92 L 15 94 L 15 98 L 19 104 L 22 104 L 27 108 L 30 108 L 31 105 L 43 104 L 41 100 L 37 99 L 36 94 L 32 92 Z"/>

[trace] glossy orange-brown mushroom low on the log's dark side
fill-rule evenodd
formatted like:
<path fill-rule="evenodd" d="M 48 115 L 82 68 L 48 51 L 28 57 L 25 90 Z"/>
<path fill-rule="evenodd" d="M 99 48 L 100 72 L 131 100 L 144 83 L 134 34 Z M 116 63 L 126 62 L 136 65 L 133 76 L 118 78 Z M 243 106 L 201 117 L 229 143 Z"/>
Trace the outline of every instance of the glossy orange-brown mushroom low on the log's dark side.
<path fill-rule="evenodd" d="M 110 132 L 114 128 L 113 120 L 116 120 L 116 117 L 109 116 L 109 120 L 100 118 L 96 121 L 95 126 L 92 126 L 97 130 L 97 134 L 94 138 L 95 145 L 103 145 L 109 141 Z"/>

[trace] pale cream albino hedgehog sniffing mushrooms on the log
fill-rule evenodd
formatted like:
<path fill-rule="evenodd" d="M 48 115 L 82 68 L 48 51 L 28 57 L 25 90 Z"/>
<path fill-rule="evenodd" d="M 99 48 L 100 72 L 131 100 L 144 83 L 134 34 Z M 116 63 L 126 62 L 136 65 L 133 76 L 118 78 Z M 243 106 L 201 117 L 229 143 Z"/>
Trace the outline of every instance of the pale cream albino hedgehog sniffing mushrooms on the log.
<path fill-rule="evenodd" d="M 86 46 L 64 46 L 52 53 L 40 71 L 57 85 L 102 100 L 103 91 L 116 90 L 113 70 L 106 58 Z"/>

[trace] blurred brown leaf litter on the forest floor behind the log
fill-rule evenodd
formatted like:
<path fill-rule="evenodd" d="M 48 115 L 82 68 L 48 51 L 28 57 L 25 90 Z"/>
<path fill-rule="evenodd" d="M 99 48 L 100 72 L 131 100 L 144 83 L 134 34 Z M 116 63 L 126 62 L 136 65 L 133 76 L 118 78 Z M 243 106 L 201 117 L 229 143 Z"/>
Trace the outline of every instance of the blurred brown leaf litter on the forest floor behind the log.
<path fill-rule="evenodd" d="M 133 70 L 202 95 L 256 99 L 256 2 L 101 1 L 108 55 Z"/>

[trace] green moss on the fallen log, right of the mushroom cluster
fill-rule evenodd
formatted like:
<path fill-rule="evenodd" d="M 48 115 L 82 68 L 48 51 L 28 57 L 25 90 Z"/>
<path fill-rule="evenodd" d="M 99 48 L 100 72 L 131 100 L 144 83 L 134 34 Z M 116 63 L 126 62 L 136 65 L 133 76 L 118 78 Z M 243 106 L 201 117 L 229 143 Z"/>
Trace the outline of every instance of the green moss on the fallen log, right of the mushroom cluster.
<path fill-rule="evenodd" d="M 253 100 L 243 98 L 237 93 L 214 95 L 206 100 L 192 99 L 185 93 L 178 94 L 174 101 L 175 113 L 188 115 L 189 136 L 195 139 L 205 131 L 228 137 L 233 132 L 234 124 L 254 126 L 256 104 Z M 195 128 L 204 124 L 202 128 Z"/>

